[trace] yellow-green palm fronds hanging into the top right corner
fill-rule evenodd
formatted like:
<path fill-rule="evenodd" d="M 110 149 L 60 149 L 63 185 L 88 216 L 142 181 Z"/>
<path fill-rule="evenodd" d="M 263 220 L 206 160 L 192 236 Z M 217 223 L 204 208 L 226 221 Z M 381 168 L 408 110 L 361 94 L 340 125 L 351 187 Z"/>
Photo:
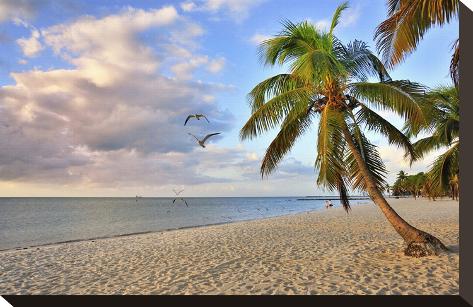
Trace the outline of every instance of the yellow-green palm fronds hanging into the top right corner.
<path fill-rule="evenodd" d="M 402 62 L 413 52 L 424 34 L 458 16 L 458 0 L 387 0 L 388 19 L 375 32 L 376 45 L 389 67 Z M 455 42 L 450 73 L 458 84 L 459 52 Z"/>

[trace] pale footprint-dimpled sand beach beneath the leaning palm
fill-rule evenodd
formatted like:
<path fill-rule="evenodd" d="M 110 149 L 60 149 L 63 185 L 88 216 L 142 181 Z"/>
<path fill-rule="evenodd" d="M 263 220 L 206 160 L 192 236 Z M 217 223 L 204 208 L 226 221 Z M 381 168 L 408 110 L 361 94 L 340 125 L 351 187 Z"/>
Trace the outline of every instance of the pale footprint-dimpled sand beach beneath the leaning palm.
<path fill-rule="evenodd" d="M 458 294 L 458 202 L 390 200 L 453 252 L 409 258 L 372 204 L 0 252 L 0 294 Z"/>

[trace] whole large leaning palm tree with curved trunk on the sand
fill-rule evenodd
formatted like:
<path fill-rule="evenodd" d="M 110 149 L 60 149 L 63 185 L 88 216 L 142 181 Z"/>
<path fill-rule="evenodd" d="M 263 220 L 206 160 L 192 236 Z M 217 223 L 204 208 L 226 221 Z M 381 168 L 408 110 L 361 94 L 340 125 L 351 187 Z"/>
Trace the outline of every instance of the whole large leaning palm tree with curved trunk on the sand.
<path fill-rule="evenodd" d="M 261 60 L 270 66 L 287 64 L 290 72 L 260 82 L 249 93 L 252 114 L 240 137 L 252 139 L 280 125 L 261 164 L 264 177 L 318 118 L 317 184 L 338 190 L 347 212 L 349 188 L 368 192 L 407 243 L 406 255 L 437 254 L 446 249 L 440 240 L 407 223 L 382 195 L 386 168 L 362 129 L 385 135 L 414 158 L 409 139 L 373 108 L 421 122 L 422 109 L 415 97 L 424 89 L 406 80 L 392 80 L 365 43 L 344 45 L 335 37 L 333 31 L 347 7 L 344 3 L 336 9 L 328 32 L 307 21 L 284 21 L 278 35 L 261 43 Z M 371 76 L 380 82 L 369 82 Z"/>

